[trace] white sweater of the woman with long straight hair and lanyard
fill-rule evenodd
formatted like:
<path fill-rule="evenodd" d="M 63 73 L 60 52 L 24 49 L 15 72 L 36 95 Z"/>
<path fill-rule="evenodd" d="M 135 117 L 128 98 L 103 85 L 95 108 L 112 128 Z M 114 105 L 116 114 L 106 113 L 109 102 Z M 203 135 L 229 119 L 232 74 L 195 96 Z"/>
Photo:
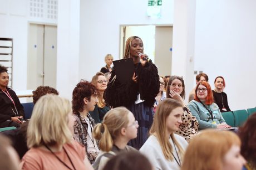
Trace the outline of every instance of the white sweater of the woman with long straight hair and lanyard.
<path fill-rule="evenodd" d="M 188 146 L 188 142 L 186 142 L 185 138 L 174 134 L 174 137 L 176 139 L 177 142 L 179 142 L 180 146 L 183 148 L 183 150 L 186 150 L 186 147 Z M 171 140 L 170 138 L 170 143 L 171 146 L 173 147 L 173 154 L 175 156 L 175 158 L 179 161 L 180 159 L 180 163 L 182 163 L 181 157 L 179 156 L 178 159 L 178 155 L 175 151 L 174 148 L 174 143 L 173 140 Z M 178 147 L 176 147 L 177 152 L 179 152 Z M 171 169 L 171 170 L 178 170 L 180 169 L 179 164 L 175 161 L 175 159 L 173 161 L 167 160 L 165 159 L 164 153 L 161 150 L 161 146 L 160 143 L 157 141 L 157 138 L 154 135 L 151 135 L 147 141 L 144 143 L 144 145 L 140 148 L 140 152 L 145 154 L 145 156 L 149 159 L 149 161 L 151 162 L 152 166 L 155 169 L 163 169 L 163 170 L 167 170 L 167 169 Z"/>

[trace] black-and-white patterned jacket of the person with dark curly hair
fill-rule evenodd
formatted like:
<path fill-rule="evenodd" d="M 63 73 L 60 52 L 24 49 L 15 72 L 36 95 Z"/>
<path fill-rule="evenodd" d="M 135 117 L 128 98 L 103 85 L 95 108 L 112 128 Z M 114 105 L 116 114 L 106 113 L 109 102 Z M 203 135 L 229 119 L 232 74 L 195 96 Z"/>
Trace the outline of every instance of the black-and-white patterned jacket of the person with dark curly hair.
<path fill-rule="evenodd" d="M 74 135 L 73 138 L 75 141 L 81 143 L 83 146 L 85 146 L 87 158 L 92 164 L 99 152 L 93 152 L 93 151 L 88 151 L 88 140 L 91 140 L 91 138 L 88 138 L 88 123 L 86 122 L 86 118 L 91 122 L 91 125 L 93 128 L 95 126 L 95 121 L 92 119 L 90 114 L 86 115 L 86 118 L 81 116 L 79 113 L 73 114 L 73 118 L 75 119 L 74 123 Z"/>

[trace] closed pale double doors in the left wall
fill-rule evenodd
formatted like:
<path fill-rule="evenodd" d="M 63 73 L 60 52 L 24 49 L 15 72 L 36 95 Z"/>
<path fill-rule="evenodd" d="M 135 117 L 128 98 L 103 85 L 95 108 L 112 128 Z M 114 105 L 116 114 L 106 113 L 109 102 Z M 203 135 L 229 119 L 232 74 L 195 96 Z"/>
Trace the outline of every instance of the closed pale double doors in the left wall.
<path fill-rule="evenodd" d="M 56 88 L 57 27 L 29 24 L 27 89 Z"/>

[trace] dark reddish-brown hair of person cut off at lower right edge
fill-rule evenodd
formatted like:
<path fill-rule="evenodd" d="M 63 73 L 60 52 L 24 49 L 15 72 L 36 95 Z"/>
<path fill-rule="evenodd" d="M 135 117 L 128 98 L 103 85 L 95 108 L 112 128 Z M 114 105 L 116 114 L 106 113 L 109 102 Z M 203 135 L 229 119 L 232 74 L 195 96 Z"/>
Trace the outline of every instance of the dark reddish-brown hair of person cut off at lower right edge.
<path fill-rule="evenodd" d="M 239 128 L 239 137 L 242 141 L 241 153 L 248 161 L 244 170 L 256 169 L 256 114 L 253 114 Z"/>

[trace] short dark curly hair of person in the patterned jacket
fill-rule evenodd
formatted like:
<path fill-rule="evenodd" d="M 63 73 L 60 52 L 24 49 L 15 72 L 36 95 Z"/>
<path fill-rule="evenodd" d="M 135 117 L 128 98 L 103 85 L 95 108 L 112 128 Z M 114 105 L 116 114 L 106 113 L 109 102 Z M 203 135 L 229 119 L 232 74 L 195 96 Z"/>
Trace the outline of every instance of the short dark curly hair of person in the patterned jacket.
<path fill-rule="evenodd" d="M 72 95 L 72 110 L 73 114 L 77 114 L 78 112 L 83 111 L 83 106 L 85 103 L 83 99 L 85 97 L 90 101 L 92 95 L 97 95 L 98 90 L 95 85 L 91 84 L 89 81 L 81 80 L 73 90 Z"/>

